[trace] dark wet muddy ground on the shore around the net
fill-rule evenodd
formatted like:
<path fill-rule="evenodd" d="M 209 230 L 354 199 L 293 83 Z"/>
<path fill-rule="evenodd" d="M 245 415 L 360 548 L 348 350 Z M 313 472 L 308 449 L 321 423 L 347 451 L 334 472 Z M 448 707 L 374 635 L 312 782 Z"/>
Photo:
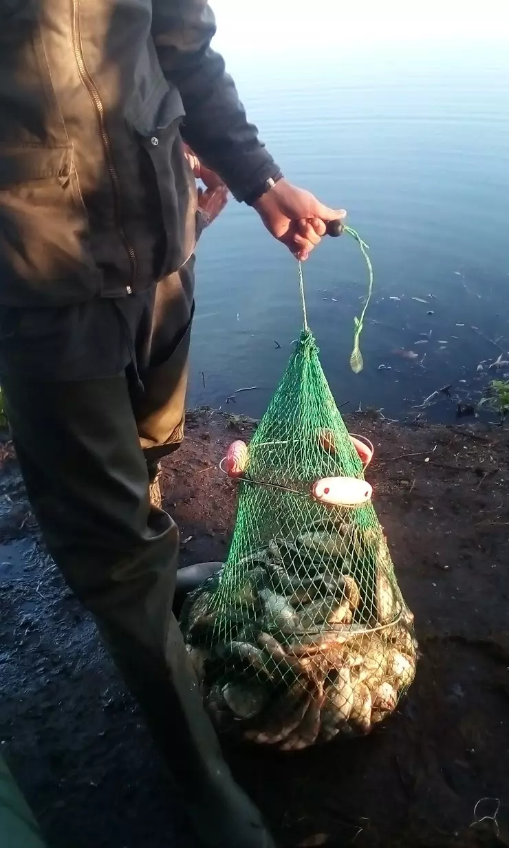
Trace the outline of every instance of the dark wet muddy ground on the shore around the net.
<path fill-rule="evenodd" d="M 348 424 L 375 445 L 366 477 L 416 616 L 417 679 L 367 739 L 228 758 L 281 848 L 509 846 L 509 435 Z M 250 427 L 202 410 L 166 462 L 183 562 L 227 555 L 236 493 L 217 463 Z M 48 844 L 194 848 L 136 706 L 44 554 L 8 445 L 0 542 L 0 739 Z"/>

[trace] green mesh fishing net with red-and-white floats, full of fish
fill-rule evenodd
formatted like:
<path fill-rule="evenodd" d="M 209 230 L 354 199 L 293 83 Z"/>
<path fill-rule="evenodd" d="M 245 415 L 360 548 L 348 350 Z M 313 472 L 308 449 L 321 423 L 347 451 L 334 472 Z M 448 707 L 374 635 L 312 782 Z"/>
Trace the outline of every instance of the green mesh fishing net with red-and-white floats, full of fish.
<path fill-rule="evenodd" d="M 369 733 L 414 677 L 413 616 L 371 499 L 345 505 L 344 485 L 370 487 L 309 330 L 241 471 L 227 563 L 182 610 L 204 703 L 282 750 Z"/>

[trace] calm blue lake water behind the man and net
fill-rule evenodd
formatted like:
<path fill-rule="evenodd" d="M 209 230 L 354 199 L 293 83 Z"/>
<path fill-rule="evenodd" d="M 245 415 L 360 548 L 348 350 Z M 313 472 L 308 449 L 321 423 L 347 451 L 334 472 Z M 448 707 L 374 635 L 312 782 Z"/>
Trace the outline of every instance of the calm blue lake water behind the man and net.
<path fill-rule="evenodd" d="M 503 373 L 489 363 L 509 359 L 509 52 L 442 44 L 329 54 L 327 63 L 304 71 L 296 60 L 237 55 L 230 66 L 288 178 L 347 209 L 371 247 L 375 292 L 357 376 L 353 322 L 367 285 L 359 249 L 347 236 L 327 239 L 305 265 L 334 396 L 397 419 L 446 383 L 479 398 Z M 234 201 L 198 255 L 189 404 L 260 416 L 302 325 L 296 263 Z M 225 406 L 250 386 L 260 388 Z M 449 421 L 454 411 L 444 399 L 427 415 Z"/>

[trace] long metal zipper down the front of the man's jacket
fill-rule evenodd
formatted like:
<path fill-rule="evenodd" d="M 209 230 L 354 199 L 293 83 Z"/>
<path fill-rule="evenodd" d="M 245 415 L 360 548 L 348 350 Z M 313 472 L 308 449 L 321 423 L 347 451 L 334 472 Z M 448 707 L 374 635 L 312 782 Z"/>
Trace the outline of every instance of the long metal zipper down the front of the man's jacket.
<path fill-rule="evenodd" d="M 120 239 L 126 248 L 127 254 L 129 255 L 129 259 L 131 261 L 131 283 L 134 282 L 137 276 L 137 258 L 136 253 L 134 252 L 134 248 L 129 243 L 129 239 L 126 236 L 126 231 L 121 224 L 120 220 L 120 187 L 119 187 L 119 175 L 115 168 L 115 161 L 113 159 L 113 154 L 111 152 L 111 144 L 109 142 L 108 131 L 106 130 L 106 122 L 104 120 L 104 107 L 101 97 L 99 95 L 97 86 L 92 80 L 91 75 L 88 73 L 87 65 L 85 64 L 85 59 L 83 56 L 83 51 L 81 48 L 81 36 L 79 35 L 79 0 L 71 0 L 72 2 L 72 41 L 74 47 L 74 53 L 76 58 L 76 64 L 78 66 L 78 71 L 81 77 L 81 82 L 86 87 L 87 92 L 92 100 L 94 108 L 96 110 L 96 114 L 98 117 L 98 125 L 99 131 L 101 133 L 101 138 L 103 139 L 103 148 L 104 155 L 106 157 L 106 163 L 108 165 L 109 177 L 111 180 L 111 186 L 113 188 L 113 198 L 114 198 L 114 209 L 115 209 L 115 220 L 117 231 L 119 233 Z M 126 290 L 128 294 L 132 293 L 132 287 L 126 286 Z"/>

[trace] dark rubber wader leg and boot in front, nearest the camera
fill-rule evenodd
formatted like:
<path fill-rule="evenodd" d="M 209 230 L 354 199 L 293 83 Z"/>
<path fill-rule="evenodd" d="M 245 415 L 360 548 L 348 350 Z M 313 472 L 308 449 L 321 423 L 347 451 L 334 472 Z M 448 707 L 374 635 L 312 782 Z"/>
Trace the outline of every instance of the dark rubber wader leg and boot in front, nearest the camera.
<path fill-rule="evenodd" d="M 4 375 L 3 393 L 48 550 L 95 616 L 204 845 L 270 845 L 222 759 L 171 612 L 178 533 L 149 504 L 126 378 L 42 384 Z"/>

